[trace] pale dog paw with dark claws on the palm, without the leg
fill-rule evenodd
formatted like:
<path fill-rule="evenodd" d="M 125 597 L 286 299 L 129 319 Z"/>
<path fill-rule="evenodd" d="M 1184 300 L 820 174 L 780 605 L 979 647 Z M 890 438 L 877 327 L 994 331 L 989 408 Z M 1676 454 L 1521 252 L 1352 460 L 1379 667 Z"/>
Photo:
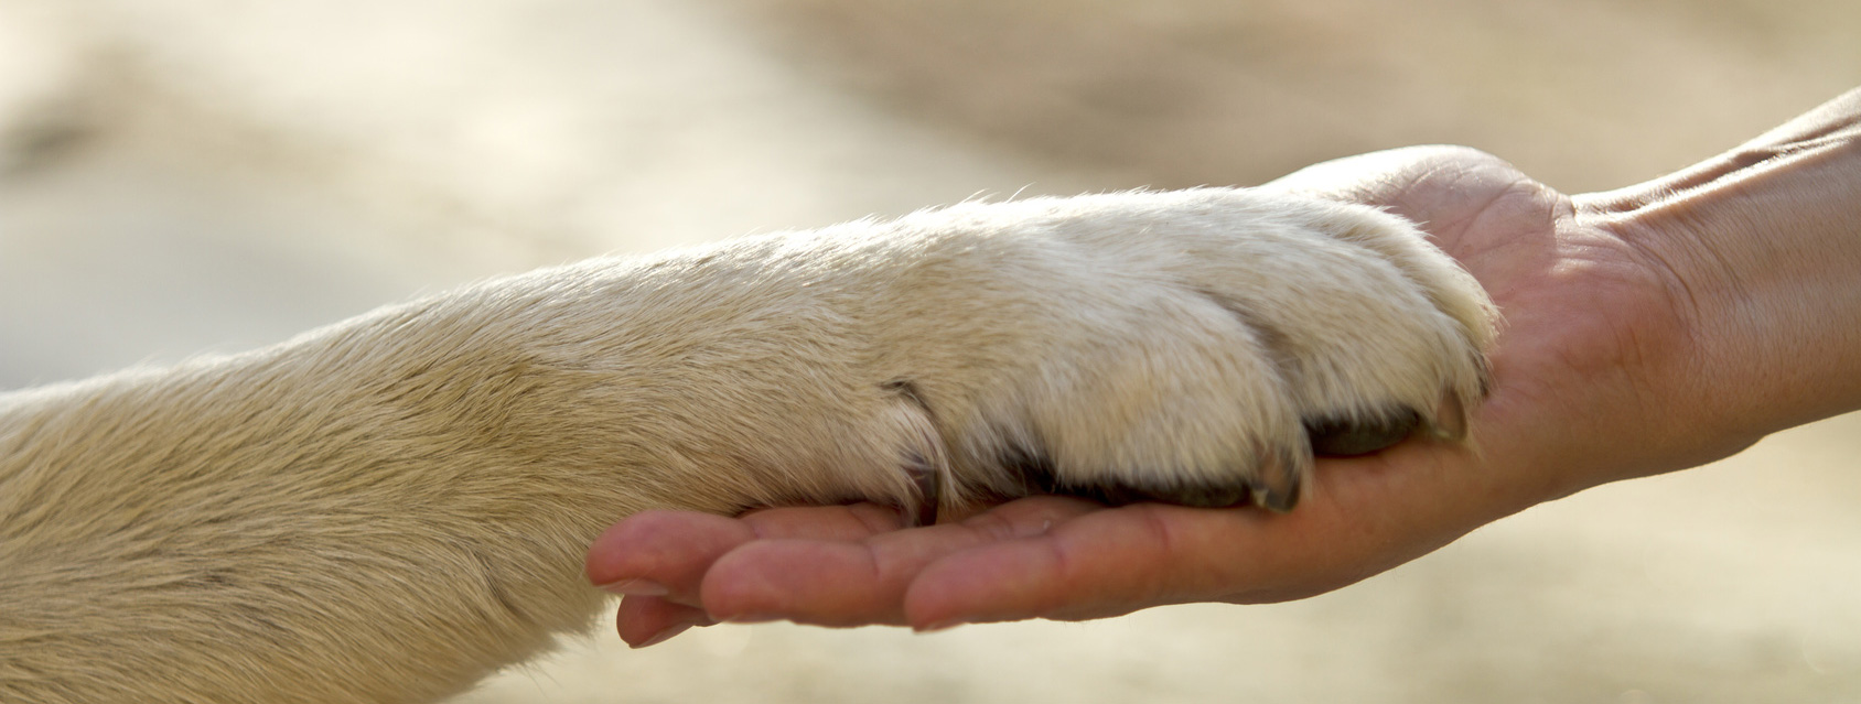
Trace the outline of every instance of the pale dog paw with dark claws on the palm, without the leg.
<path fill-rule="evenodd" d="M 886 314 L 944 503 L 1070 492 L 1292 509 L 1312 457 L 1459 440 L 1496 312 L 1411 223 L 1247 189 L 958 206 Z"/>

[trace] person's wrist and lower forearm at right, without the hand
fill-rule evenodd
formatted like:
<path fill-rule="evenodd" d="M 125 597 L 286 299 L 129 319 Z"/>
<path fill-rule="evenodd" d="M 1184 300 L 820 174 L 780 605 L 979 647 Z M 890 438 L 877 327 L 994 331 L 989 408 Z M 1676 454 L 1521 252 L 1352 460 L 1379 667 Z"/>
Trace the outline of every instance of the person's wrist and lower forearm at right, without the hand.
<path fill-rule="evenodd" d="M 1673 277 L 1697 433 L 1736 450 L 1861 409 L 1861 91 L 1584 201 Z"/>

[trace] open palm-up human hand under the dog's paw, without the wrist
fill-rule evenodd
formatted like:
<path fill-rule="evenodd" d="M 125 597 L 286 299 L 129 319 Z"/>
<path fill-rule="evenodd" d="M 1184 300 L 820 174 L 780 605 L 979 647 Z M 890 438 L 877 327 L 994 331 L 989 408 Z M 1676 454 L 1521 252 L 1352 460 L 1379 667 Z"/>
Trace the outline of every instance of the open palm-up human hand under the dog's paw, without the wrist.
<path fill-rule="evenodd" d="M 649 645 L 716 620 L 929 630 L 1303 598 L 1533 503 L 1761 437 L 1675 407 L 1695 385 L 1699 312 L 1660 232 L 1621 217 L 1623 193 L 1573 201 L 1450 147 L 1321 163 L 1265 188 L 1390 208 L 1487 288 L 1506 327 L 1470 444 L 1412 438 L 1321 459 L 1288 515 L 1055 496 L 910 529 L 877 505 L 644 513 L 588 557 L 596 583 L 629 594 L 622 637 Z"/>

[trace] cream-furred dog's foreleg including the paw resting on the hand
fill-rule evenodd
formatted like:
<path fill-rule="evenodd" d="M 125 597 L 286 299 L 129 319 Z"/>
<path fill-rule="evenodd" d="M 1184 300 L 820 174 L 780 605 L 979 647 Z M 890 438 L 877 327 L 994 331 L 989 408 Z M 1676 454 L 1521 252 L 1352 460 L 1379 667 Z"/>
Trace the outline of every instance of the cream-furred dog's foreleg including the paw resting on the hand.
<path fill-rule="evenodd" d="M 590 260 L 0 396 L 0 702 L 424 702 L 586 628 L 649 507 L 1297 492 L 1303 420 L 1455 431 L 1493 308 L 1407 223 L 1236 189 Z"/>

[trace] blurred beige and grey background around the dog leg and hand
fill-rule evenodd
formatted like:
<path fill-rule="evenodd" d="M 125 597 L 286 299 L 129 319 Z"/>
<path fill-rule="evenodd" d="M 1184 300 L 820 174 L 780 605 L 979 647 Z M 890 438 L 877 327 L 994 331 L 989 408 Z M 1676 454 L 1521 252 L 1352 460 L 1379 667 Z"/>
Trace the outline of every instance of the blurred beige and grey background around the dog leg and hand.
<path fill-rule="evenodd" d="M 0 0 L 0 388 L 971 195 L 1411 143 L 1625 186 L 1861 84 L 1855 37 L 1846 0 Z M 1828 420 L 1297 604 L 601 630 L 460 702 L 1854 702 L 1857 451 Z"/>

